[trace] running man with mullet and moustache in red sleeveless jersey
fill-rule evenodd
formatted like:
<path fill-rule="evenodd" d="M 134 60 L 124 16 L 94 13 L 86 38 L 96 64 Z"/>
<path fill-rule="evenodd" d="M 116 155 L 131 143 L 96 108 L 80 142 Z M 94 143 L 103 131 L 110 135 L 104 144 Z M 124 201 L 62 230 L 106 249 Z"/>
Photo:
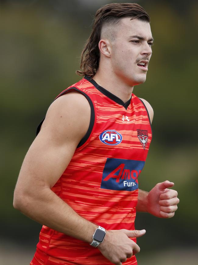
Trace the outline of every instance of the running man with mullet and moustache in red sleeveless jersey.
<path fill-rule="evenodd" d="M 153 37 L 138 4 L 96 13 L 83 50 L 84 76 L 50 105 L 25 156 L 14 207 L 43 224 L 31 265 L 137 264 L 136 211 L 170 218 L 174 183 L 138 189 L 152 138 L 153 109 L 136 97 Z"/>

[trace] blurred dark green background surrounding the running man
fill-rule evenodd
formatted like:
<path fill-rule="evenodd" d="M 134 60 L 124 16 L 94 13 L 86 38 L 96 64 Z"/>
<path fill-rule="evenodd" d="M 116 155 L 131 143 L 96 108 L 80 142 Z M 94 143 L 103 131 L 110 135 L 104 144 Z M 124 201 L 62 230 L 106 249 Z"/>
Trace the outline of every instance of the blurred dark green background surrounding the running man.
<path fill-rule="evenodd" d="M 41 225 L 12 207 L 23 158 L 48 106 L 80 80 L 80 54 L 96 10 L 127 1 L 0 1 L 1 202 L 0 264 L 29 264 Z M 136 1 L 151 17 L 153 55 L 146 83 L 134 93 L 154 109 L 153 140 L 140 188 L 175 182 L 171 219 L 138 213 L 139 265 L 197 264 L 197 1 Z"/>

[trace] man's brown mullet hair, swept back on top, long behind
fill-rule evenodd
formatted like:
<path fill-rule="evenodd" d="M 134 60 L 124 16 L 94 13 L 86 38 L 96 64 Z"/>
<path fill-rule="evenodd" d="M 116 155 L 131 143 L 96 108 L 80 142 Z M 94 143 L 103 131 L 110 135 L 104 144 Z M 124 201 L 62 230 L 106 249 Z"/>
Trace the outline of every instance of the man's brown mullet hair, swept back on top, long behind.
<path fill-rule="evenodd" d="M 97 10 L 93 29 L 81 54 L 80 68 L 78 75 L 88 75 L 93 77 L 98 69 L 100 61 L 100 51 L 98 43 L 100 41 L 101 28 L 104 24 L 118 24 L 123 17 L 131 17 L 150 23 L 147 12 L 138 4 L 113 3 L 102 6 Z"/>

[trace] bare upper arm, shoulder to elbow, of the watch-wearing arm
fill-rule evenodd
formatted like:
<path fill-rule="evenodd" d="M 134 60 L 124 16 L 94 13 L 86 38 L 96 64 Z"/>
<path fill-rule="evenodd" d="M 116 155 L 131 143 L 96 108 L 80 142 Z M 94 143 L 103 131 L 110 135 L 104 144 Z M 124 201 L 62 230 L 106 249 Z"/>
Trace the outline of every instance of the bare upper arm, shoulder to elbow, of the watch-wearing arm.
<path fill-rule="evenodd" d="M 79 100 L 79 108 L 74 109 L 73 105 L 79 104 Z M 81 94 L 70 93 L 66 100 L 56 101 L 49 108 L 41 131 L 23 161 L 16 188 L 25 193 L 54 186 L 87 132 L 90 121 L 87 99 Z M 64 106 L 60 107 L 62 103 Z M 85 114 L 83 117 L 82 112 Z"/>

